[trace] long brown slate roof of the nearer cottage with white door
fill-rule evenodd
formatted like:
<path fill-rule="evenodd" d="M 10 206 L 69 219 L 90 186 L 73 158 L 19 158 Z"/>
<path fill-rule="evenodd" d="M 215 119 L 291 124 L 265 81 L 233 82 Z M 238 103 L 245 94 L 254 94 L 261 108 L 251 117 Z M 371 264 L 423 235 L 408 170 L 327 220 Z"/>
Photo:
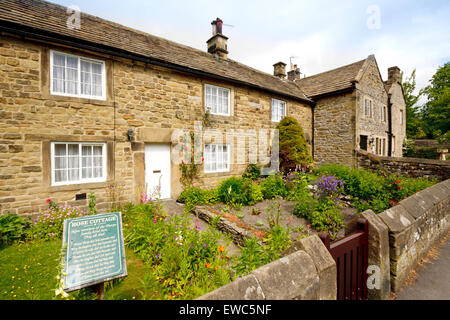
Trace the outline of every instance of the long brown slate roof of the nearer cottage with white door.
<path fill-rule="evenodd" d="M 71 30 L 67 27 L 69 16 L 66 7 L 42 0 L 1 0 L 0 30 L 31 30 L 33 35 L 44 33 L 49 41 L 62 38 L 100 45 L 313 103 L 295 83 L 231 59 L 216 59 L 206 52 L 206 44 L 201 51 L 84 13 L 81 29 Z"/>

